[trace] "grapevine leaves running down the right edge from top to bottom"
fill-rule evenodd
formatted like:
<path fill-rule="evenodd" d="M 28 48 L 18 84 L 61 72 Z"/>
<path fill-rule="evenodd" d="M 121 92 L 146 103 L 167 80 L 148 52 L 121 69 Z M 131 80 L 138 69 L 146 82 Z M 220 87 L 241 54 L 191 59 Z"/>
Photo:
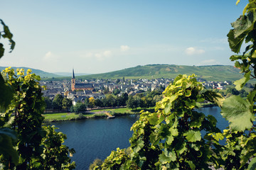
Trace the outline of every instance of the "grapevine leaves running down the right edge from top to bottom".
<path fill-rule="evenodd" d="M 237 2 L 239 3 L 239 1 Z M 228 42 L 233 52 L 240 53 L 242 44 L 245 51 L 242 55 L 232 55 L 235 67 L 241 70 L 244 77 L 235 81 L 235 88 L 243 86 L 256 78 L 256 1 L 250 0 L 242 16 L 231 24 L 233 29 L 228 33 Z M 256 86 L 247 98 L 231 96 L 226 98 L 221 114 L 230 123 L 230 129 L 224 130 L 226 145 L 223 161 L 227 169 L 255 169 L 256 134 L 255 134 L 255 98 Z M 249 163 L 249 164 L 248 164 Z"/>

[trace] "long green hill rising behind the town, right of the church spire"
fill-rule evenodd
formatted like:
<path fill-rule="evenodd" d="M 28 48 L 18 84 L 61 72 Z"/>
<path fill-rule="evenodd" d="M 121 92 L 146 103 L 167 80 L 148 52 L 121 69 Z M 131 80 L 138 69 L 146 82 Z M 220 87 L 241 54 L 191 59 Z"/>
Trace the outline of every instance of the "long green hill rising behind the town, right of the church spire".
<path fill-rule="evenodd" d="M 175 78 L 178 74 L 196 74 L 206 81 L 235 81 L 242 78 L 242 74 L 237 69 L 229 65 L 212 66 L 186 66 L 169 64 L 149 64 L 115 72 L 102 74 L 90 74 L 76 77 L 77 79 L 156 79 L 156 78 Z"/>

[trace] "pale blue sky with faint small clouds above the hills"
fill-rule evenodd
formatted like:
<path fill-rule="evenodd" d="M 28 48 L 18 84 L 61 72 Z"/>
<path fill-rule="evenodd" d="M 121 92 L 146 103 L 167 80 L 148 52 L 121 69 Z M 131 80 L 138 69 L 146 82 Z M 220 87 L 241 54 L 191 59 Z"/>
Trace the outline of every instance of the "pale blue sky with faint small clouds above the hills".
<path fill-rule="evenodd" d="M 16 47 L 2 67 L 97 74 L 146 64 L 233 65 L 227 34 L 243 0 L 1 1 Z M 2 30 L 2 28 L 0 27 Z"/>

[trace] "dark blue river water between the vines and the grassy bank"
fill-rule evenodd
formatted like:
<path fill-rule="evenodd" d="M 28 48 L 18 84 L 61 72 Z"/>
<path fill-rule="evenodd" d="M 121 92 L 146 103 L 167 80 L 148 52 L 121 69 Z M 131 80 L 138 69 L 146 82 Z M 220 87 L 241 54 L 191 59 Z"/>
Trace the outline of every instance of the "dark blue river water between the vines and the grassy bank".
<path fill-rule="evenodd" d="M 220 108 L 199 108 L 198 111 L 206 115 L 214 115 L 218 120 L 220 130 L 228 126 L 228 122 L 220 115 Z M 97 118 L 87 120 L 50 123 L 59 128 L 58 131 L 67 135 L 65 145 L 75 149 L 72 160 L 76 169 L 88 169 L 96 159 L 104 160 L 112 150 L 129 147 L 129 138 L 132 137 L 130 128 L 139 119 L 139 115 L 125 115 L 114 119 Z"/>

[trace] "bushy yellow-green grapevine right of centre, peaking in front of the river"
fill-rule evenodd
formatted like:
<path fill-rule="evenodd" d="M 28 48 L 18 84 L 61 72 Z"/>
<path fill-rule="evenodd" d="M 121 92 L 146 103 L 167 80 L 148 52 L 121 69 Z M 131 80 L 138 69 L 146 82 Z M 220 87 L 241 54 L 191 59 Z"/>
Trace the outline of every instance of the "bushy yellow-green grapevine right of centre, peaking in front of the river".
<path fill-rule="evenodd" d="M 132 125 L 134 134 L 129 140 L 132 152 L 127 161 L 121 161 L 119 152 L 114 152 L 117 154 L 114 159 L 122 163 L 120 166 L 127 169 L 210 169 L 209 162 L 217 166 L 223 148 L 218 140 L 223 140 L 223 135 L 216 128 L 217 120 L 212 115 L 199 113 L 195 108 L 198 102 L 218 101 L 221 96 L 208 91 L 203 93 L 202 89 L 195 75 L 176 77 L 164 91 L 162 101 L 156 103 L 155 112 L 142 113 Z M 110 157 L 113 156 L 112 152 Z"/>

